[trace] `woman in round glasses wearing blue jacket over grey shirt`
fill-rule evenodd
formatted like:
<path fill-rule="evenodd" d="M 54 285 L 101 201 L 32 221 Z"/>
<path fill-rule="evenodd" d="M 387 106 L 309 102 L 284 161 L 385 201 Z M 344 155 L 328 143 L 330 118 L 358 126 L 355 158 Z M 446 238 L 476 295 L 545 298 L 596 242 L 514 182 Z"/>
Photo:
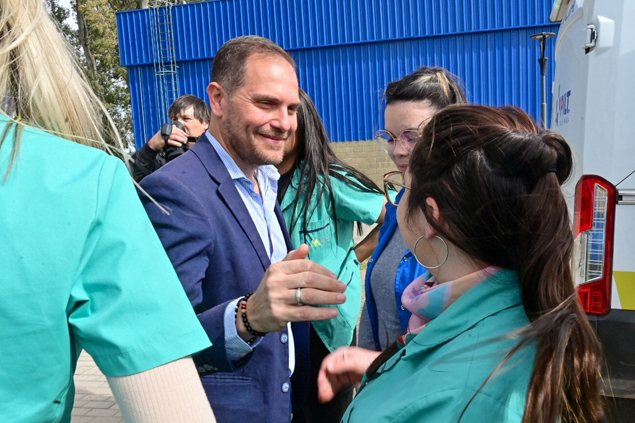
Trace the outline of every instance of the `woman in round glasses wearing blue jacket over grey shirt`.
<path fill-rule="evenodd" d="M 377 131 L 377 141 L 391 157 L 398 171 L 408 169 L 408 160 L 420 126 L 443 107 L 465 103 L 458 78 L 440 67 L 421 67 L 392 81 L 385 90 L 385 129 Z M 396 172 L 384 176 L 398 178 Z M 394 185 L 396 190 L 401 190 Z M 426 272 L 417 263 L 397 230 L 395 201 L 388 198 L 384 225 L 379 231 L 375 252 L 366 270 L 366 303 L 359 321 L 358 345 L 382 351 L 403 334 L 410 311 L 402 307 L 401 293 L 408 283 Z"/>

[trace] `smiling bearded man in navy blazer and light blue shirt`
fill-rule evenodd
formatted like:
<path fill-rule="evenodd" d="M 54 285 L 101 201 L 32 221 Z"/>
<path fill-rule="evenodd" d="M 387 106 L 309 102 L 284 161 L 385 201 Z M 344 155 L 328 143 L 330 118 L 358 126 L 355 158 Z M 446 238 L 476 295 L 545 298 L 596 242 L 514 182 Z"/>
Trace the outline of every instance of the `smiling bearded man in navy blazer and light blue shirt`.
<path fill-rule="evenodd" d="M 141 198 L 213 344 L 194 361 L 218 422 L 284 422 L 304 400 L 307 322 L 337 315 L 307 304 L 344 303 L 345 285 L 306 245 L 289 252 L 276 202 L 271 165 L 297 127 L 295 63 L 239 37 L 218 50 L 211 81 L 210 129 L 144 178 L 152 199 Z"/>

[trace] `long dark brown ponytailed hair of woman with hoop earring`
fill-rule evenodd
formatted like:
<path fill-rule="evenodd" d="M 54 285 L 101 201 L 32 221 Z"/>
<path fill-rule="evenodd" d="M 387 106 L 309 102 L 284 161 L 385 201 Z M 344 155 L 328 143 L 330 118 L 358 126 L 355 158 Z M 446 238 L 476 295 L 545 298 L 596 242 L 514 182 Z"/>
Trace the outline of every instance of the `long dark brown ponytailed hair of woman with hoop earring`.
<path fill-rule="evenodd" d="M 410 158 L 406 216 L 422 211 L 441 237 L 475 261 L 518 271 L 531 325 L 501 365 L 537 342 L 524 423 L 605 421 L 601 347 L 577 301 L 569 264 L 573 234 L 561 185 L 572 164 L 565 139 L 519 108 L 477 105 L 441 110 Z M 447 230 L 432 218 L 427 197 L 438 203 Z"/>

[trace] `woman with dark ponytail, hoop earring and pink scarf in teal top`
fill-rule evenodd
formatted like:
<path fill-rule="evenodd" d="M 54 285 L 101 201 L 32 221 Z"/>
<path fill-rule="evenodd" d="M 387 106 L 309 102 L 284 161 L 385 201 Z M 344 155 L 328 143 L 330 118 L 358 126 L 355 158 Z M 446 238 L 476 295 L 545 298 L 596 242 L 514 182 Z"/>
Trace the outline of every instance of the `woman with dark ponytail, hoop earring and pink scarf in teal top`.
<path fill-rule="evenodd" d="M 339 349 L 320 395 L 361 381 L 346 422 L 603 422 L 601 349 L 577 302 L 561 185 L 572 153 L 514 107 L 452 106 L 425 127 L 398 221 L 433 277 L 384 351 Z M 370 367 L 366 368 L 366 365 Z"/>

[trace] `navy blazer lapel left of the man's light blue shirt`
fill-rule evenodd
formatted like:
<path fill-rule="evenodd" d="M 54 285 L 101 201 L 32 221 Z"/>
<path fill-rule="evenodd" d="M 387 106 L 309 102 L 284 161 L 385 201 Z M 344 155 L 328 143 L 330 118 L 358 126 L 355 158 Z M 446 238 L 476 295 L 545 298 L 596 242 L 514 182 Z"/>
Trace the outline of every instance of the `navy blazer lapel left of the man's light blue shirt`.
<path fill-rule="evenodd" d="M 262 267 L 267 270 L 271 265 L 271 261 L 269 261 L 265 246 L 262 244 L 262 239 L 260 239 L 256 225 L 254 225 L 246 205 L 244 205 L 243 198 L 238 193 L 236 185 L 234 185 L 234 180 L 229 176 L 229 172 L 227 172 L 225 164 L 218 157 L 218 153 L 207 138 L 202 138 L 190 150 L 197 155 L 211 178 L 218 184 L 218 197 L 222 198 L 227 204 L 227 209 L 232 213 L 238 225 L 241 226 L 256 254 L 258 254 Z"/>

